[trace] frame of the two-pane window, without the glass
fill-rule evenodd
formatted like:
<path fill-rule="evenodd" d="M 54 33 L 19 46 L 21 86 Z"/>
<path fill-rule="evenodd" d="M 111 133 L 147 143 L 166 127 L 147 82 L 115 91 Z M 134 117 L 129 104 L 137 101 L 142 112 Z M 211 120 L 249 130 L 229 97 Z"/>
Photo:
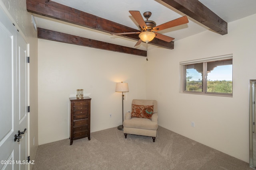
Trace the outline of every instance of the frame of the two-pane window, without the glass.
<path fill-rule="evenodd" d="M 225 61 L 225 60 L 232 60 L 232 93 L 217 93 L 217 92 L 207 92 L 207 63 L 212 61 Z M 203 63 L 203 74 L 202 74 L 202 92 L 193 92 L 193 91 L 186 91 L 186 71 L 185 66 L 189 64 L 197 64 Z M 196 59 L 190 61 L 183 61 L 180 62 L 180 69 L 181 69 L 181 86 L 180 92 L 186 94 L 201 94 L 201 95 L 208 95 L 208 96 L 226 96 L 226 97 L 233 97 L 233 55 L 222 55 L 217 57 L 209 57 L 204 59 Z"/>

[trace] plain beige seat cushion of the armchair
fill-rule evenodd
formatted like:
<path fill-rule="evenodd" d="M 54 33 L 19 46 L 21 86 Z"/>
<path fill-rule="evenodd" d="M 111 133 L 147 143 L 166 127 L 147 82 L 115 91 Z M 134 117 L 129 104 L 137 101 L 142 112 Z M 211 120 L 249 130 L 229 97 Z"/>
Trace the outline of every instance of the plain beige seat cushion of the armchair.
<path fill-rule="evenodd" d="M 144 119 L 139 117 L 132 117 L 131 119 L 124 120 L 124 127 L 132 127 L 138 129 L 149 129 L 149 130 L 157 130 L 158 123 L 153 122 L 150 119 Z"/>

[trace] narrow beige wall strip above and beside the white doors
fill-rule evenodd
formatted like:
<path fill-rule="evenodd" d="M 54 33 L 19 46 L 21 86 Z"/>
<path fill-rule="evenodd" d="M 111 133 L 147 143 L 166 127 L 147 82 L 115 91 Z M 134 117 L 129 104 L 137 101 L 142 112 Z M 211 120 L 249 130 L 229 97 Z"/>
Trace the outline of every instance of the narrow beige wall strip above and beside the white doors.
<path fill-rule="evenodd" d="M 31 14 L 26 11 L 26 0 L 0 0 L 0 8 L 6 12 L 30 46 L 30 120 L 28 127 L 30 147 L 28 155 L 30 160 L 35 160 L 38 148 L 37 33 L 32 25 Z"/>

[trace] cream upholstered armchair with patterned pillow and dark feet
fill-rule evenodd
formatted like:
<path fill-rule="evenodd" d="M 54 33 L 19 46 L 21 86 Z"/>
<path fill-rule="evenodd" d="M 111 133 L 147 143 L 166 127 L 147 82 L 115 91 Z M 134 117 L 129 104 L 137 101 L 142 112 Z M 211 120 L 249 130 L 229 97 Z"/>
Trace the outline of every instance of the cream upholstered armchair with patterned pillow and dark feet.
<path fill-rule="evenodd" d="M 158 112 L 156 100 L 132 100 L 131 112 L 124 116 L 124 136 L 127 134 L 142 135 L 156 139 L 158 129 Z"/>

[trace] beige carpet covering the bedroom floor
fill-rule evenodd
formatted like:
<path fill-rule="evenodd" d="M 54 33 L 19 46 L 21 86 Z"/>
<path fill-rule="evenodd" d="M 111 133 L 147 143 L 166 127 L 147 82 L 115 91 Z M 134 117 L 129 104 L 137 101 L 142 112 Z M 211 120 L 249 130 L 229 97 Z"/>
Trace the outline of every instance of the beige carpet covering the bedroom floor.
<path fill-rule="evenodd" d="M 125 139 L 115 127 L 69 144 L 64 139 L 40 145 L 34 170 L 251 170 L 242 160 L 160 126 L 155 143 L 138 135 Z"/>

